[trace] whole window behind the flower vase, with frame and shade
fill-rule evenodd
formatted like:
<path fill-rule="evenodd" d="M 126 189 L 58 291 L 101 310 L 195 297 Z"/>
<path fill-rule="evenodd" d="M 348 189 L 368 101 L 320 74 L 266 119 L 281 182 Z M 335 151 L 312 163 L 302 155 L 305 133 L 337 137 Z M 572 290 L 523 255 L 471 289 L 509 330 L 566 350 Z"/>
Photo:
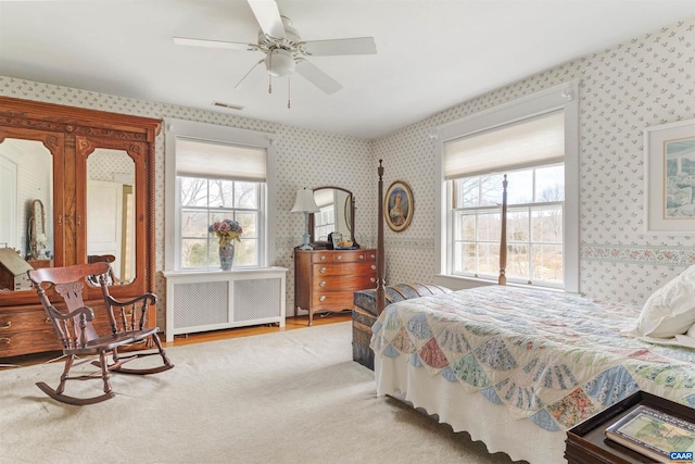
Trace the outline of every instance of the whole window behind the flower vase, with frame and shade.
<path fill-rule="evenodd" d="M 268 231 L 267 173 L 274 156 L 261 133 L 187 121 L 167 121 L 166 268 L 219 268 L 219 240 L 211 224 L 233 220 L 243 229 L 235 266 L 265 266 L 273 260 Z M 270 258 L 269 258 L 270 256 Z"/>

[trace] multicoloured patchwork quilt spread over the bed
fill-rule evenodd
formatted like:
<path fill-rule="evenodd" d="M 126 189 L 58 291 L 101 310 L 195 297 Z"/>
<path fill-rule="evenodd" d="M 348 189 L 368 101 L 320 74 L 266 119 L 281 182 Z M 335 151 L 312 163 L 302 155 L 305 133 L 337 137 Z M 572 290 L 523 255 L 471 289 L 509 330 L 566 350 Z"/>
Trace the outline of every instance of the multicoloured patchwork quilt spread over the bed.
<path fill-rule="evenodd" d="M 560 292 L 480 287 L 389 305 L 370 347 L 376 356 L 401 359 L 551 431 L 637 390 L 695 407 L 695 350 L 620 335 L 640 311 Z"/>

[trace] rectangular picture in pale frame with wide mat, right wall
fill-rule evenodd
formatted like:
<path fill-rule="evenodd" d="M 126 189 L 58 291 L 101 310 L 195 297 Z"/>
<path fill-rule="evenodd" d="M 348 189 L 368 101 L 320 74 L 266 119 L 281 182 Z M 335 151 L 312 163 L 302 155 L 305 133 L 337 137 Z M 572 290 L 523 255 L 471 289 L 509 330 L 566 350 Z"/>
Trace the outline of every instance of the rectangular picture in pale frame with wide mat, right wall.
<path fill-rule="evenodd" d="M 695 120 L 647 127 L 645 234 L 695 235 Z"/>

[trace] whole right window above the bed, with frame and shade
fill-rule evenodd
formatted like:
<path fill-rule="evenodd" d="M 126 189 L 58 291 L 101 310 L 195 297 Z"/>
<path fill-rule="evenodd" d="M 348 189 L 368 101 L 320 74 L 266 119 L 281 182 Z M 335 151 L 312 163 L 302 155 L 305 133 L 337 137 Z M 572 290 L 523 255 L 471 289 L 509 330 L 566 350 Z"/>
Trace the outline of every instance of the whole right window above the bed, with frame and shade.
<path fill-rule="evenodd" d="M 506 175 L 507 283 L 579 290 L 577 84 L 438 128 L 435 280 L 497 280 Z"/>

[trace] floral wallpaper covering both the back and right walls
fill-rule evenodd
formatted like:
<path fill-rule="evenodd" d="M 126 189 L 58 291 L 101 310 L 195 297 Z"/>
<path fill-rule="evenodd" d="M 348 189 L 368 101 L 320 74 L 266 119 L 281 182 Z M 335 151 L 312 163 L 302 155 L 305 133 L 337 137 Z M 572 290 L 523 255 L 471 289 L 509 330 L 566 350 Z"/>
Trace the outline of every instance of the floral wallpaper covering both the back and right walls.
<path fill-rule="evenodd" d="M 384 228 L 387 283 L 430 281 L 434 273 L 433 127 L 570 79 L 580 84 L 580 289 L 593 298 L 643 302 L 695 263 L 692 236 L 645 236 L 644 153 L 647 126 L 695 117 L 695 18 L 618 43 L 458 103 L 384 137 L 367 140 L 233 114 L 128 99 L 0 76 L 0 95 L 149 117 L 175 117 L 275 134 L 278 218 L 275 265 L 288 273 L 292 314 L 292 249 L 304 221 L 291 214 L 299 187 L 334 185 L 356 200 L 356 239 L 375 244 L 378 160 L 384 190 L 394 180 L 414 195 L 414 217 L 400 233 Z M 164 129 L 165 130 L 165 129 Z M 338 167 L 339 166 L 339 167 Z M 156 226 L 164 228 L 164 136 L 156 140 Z M 156 243 L 163 269 L 163 240 Z M 157 292 L 164 294 L 163 277 Z M 162 313 L 162 312 L 161 312 Z M 162 323 L 160 323 L 162 324 Z"/>

